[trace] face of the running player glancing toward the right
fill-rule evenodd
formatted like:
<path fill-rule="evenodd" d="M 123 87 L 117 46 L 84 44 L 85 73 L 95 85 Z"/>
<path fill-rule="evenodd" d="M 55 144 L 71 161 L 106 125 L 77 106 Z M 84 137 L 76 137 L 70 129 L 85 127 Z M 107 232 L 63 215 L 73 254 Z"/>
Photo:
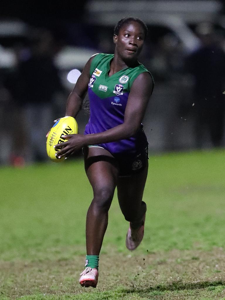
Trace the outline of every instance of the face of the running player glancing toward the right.
<path fill-rule="evenodd" d="M 137 59 L 144 44 L 144 29 L 138 22 L 124 24 L 118 35 L 114 35 L 117 53 L 123 59 Z"/>

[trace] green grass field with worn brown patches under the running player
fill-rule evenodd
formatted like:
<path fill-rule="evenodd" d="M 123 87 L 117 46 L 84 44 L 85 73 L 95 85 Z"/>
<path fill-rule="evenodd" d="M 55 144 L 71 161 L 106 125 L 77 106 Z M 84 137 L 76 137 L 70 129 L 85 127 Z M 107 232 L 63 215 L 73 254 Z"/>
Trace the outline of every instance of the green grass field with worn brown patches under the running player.
<path fill-rule="evenodd" d="M 2 167 L 0 299 L 224 299 L 224 150 L 151 156 L 140 247 L 116 196 L 96 289 L 81 288 L 92 190 L 82 160 Z"/>

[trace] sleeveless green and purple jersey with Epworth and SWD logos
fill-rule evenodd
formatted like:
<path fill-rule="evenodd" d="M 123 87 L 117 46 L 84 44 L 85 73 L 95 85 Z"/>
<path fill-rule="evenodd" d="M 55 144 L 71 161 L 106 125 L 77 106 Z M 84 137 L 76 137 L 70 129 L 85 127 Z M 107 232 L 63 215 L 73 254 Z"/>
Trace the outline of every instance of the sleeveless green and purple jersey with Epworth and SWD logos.
<path fill-rule="evenodd" d="M 88 84 L 90 118 L 84 134 L 100 133 L 122 124 L 132 83 L 139 74 L 149 72 L 142 64 L 139 64 L 134 68 L 127 67 L 120 70 L 109 77 L 110 62 L 113 57 L 113 54 L 99 53 L 91 62 L 91 78 Z M 140 130 L 134 136 L 125 140 L 99 144 L 99 146 L 112 154 L 127 151 L 134 153 L 146 143 L 147 139 L 140 124 Z"/>

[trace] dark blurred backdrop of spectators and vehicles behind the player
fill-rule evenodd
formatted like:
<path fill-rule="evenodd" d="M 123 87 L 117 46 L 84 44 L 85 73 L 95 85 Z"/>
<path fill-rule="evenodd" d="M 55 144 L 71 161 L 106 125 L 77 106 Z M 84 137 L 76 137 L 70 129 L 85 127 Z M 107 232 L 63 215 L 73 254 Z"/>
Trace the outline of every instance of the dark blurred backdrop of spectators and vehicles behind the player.
<path fill-rule="evenodd" d="M 213 0 L 1 1 L 0 164 L 49 161 L 45 135 L 95 53 L 113 53 L 122 17 L 149 29 L 140 62 L 155 89 L 151 153 L 224 147 L 225 7 Z M 86 101 L 87 99 L 85 99 Z M 77 117 L 80 133 L 88 113 Z"/>

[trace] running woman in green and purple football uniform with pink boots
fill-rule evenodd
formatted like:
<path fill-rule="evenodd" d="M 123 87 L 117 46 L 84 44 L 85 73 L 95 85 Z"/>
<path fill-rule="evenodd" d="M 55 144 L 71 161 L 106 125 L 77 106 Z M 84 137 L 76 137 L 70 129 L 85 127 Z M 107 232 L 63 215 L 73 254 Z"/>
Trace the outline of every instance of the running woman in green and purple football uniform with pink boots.
<path fill-rule="evenodd" d="M 66 135 L 56 157 L 83 148 L 85 171 L 94 198 L 86 218 L 86 264 L 81 286 L 96 287 L 98 260 L 117 186 L 122 213 L 130 222 L 126 247 L 134 250 L 144 235 L 148 142 L 142 119 L 153 90 L 149 71 L 138 62 L 147 27 L 140 19 L 121 19 L 114 29 L 113 54 L 93 55 L 69 95 L 66 116 L 76 117 L 88 91 L 90 119 L 85 133 Z"/>

